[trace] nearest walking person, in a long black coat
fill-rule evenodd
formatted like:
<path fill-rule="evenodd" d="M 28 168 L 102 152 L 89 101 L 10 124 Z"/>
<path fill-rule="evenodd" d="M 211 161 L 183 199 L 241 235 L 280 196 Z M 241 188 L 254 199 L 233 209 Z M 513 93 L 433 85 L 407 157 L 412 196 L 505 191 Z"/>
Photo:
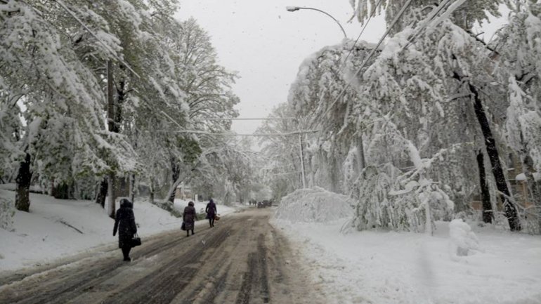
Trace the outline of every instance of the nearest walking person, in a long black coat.
<path fill-rule="evenodd" d="M 137 233 L 135 216 L 133 215 L 133 204 L 128 199 L 120 200 L 120 208 L 115 216 L 115 227 L 112 229 L 114 237 L 118 231 L 118 246 L 122 249 L 125 261 L 131 261 L 129 251 L 131 251 L 130 240 L 133 239 L 133 234 Z"/>

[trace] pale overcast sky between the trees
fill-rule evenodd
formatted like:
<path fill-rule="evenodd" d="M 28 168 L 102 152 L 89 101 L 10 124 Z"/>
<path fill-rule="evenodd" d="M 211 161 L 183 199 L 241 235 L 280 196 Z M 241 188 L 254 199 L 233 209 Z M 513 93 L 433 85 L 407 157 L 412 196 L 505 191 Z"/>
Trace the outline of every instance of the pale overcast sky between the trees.
<path fill-rule="evenodd" d="M 317 11 L 288 12 L 286 6 L 318 8 L 334 16 L 350 39 L 362 26 L 351 18 L 348 0 L 181 0 L 177 16 L 190 16 L 209 33 L 220 62 L 237 71 L 233 91 L 240 97 L 240 117 L 267 117 L 287 101 L 289 85 L 304 58 L 323 46 L 339 44 L 339 26 Z M 361 40 L 377 42 L 384 33 L 383 18 L 373 18 Z M 497 27 L 493 24 L 491 27 Z M 237 133 L 253 133 L 261 121 L 234 121 Z"/>

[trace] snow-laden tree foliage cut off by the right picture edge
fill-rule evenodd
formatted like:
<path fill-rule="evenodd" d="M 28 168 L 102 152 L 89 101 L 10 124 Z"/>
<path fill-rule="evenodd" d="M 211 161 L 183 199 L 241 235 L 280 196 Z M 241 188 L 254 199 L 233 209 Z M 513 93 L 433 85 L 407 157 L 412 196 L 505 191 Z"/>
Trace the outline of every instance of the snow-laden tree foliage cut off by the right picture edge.
<path fill-rule="evenodd" d="M 499 33 L 495 46 L 500 59 L 500 83 L 507 86 L 509 103 L 505 134 L 522 163 L 528 183 L 528 200 L 541 231 L 541 185 L 534 177 L 541 172 L 541 4 L 517 1 L 509 24 Z"/>

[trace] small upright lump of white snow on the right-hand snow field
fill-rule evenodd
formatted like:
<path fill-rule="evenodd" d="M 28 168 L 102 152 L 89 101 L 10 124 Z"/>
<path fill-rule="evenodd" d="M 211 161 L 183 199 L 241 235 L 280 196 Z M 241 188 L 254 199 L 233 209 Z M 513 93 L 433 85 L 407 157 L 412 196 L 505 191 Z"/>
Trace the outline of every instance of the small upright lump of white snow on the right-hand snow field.
<path fill-rule="evenodd" d="M 470 256 L 480 251 L 479 241 L 471 227 L 462 219 L 452 220 L 449 223 L 450 256 L 458 260 L 459 256 Z"/>

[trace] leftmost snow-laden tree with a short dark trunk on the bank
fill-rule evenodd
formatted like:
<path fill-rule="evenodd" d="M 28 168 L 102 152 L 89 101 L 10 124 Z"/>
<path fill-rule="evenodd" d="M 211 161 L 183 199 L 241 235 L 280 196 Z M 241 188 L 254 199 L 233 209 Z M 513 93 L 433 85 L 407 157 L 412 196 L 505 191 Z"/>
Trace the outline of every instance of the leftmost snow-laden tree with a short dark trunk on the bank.
<path fill-rule="evenodd" d="M 67 29 L 55 23 L 62 8 L 8 1 L 0 9 L 1 89 L 20 95 L 18 106 L 24 107 L 18 209 L 30 206 L 27 191 L 34 168 L 46 172 L 48 164 L 66 164 L 70 170 L 60 173 L 63 178 L 97 173 L 107 170 L 104 151 L 129 168 L 129 145 L 103 130 L 104 98 L 98 79 L 72 48 Z"/>

